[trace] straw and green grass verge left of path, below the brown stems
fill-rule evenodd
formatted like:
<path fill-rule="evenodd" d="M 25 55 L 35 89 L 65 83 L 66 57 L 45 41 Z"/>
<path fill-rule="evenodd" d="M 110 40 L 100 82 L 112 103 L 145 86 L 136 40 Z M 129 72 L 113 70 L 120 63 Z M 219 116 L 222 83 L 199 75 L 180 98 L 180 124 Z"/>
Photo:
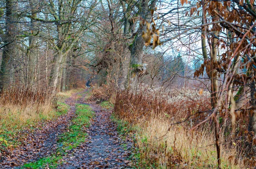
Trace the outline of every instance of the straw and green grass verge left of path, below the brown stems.
<path fill-rule="evenodd" d="M 33 130 L 38 122 L 58 118 L 67 113 L 69 106 L 64 103 L 64 100 L 79 91 L 82 90 L 76 89 L 59 93 L 57 95 L 57 109 L 52 104 L 52 98 L 46 99 L 45 102 L 31 100 L 30 102 L 27 101 L 26 104 L 14 104 L 11 101 L 3 104 L 2 101 L 0 103 L 0 155 L 1 151 L 7 147 L 15 148 L 20 145 L 20 139 L 23 139 L 22 135 L 17 137 L 20 131 Z"/>

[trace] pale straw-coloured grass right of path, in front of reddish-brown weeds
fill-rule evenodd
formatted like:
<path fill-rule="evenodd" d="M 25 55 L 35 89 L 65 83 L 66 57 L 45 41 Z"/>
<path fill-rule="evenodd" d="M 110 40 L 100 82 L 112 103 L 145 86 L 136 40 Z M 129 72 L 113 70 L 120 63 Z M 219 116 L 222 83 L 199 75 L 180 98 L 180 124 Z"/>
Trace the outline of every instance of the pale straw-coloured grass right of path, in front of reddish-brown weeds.
<path fill-rule="evenodd" d="M 167 132 L 169 121 L 166 118 L 141 119 L 136 126 L 140 167 L 217 168 L 214 135 L 208 132 L 209 128 L 192 134 L 186 127 L 173 126 Z M 235 146 L 222 149 L 222 167 L 241 168 L 241 161 L 238 165 L 228 162 L 228 157 L 236 154 Z"/>

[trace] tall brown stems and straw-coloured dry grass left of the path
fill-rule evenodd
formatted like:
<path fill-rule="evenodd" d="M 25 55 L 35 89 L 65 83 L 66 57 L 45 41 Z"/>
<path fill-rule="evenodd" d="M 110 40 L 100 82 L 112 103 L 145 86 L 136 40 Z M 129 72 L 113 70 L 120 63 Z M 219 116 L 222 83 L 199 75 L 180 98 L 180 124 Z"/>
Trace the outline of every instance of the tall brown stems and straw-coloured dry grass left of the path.
<path fill-rule="evenodd" d="M 55 115 L 57 98 L 51 89 L 11 88 L 0 94 L 1 128 L 19 128 Z"/>

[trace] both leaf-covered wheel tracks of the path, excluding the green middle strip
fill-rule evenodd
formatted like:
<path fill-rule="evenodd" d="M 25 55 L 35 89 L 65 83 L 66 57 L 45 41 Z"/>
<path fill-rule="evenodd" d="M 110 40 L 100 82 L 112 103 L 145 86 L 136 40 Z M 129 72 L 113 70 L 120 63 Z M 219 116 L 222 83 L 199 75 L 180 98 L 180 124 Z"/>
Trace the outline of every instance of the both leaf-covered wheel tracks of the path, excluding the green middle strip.
<path fill-rule="evenodd" d="M 84 93 L 84 92 L 83 92 Z M 22 146 L 7 152 L 1 157 L 0 169 L 17 169 L 24 163 L 37 161 L 47 157 L 58 148 L 58 135 L 67 132 L 67 127 L 76 113 L 75 104 L 87 104 L 84 96 L 76 101 L 76 96 L 71 96 L 65 102 L 70 105 L 70 111 L 59 118 L 39 124 L 35 130 L 23 131 L 25 135 Z M 90 103 L 95 112 L 91 125 L 87 129 L 86 141 L 70 150 L 61 161 L 59 169 L 129 169 L 131 162 L 127 160 L 130 155 L 131 143 L 123 141 L 117 131 L 116 125 L 111 121 L 111 110 L 102 109 L 98 104 Z"/>

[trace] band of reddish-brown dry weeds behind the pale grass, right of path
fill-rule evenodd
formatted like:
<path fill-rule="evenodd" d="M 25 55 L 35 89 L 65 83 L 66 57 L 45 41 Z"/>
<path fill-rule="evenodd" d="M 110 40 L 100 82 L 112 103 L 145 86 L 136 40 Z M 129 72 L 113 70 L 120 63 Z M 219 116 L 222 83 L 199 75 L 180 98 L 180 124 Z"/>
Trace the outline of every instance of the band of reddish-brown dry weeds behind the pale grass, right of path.
<path fill-rule="evenodd" d="M 114 111 L 120 118 L 125 118 L 129 122 L 159 116 L 175 122 L 192 115 L 195 123 L 207 116 L 207 110 L 210 109 L 209 99 L 205 97 L 197 101 L 177 100 L 176 102 L 171 102 L 171 97 L 162 92 L 150 94 L 147 90 L 140 90 L 135 94 L 128 90 L 119 91 L 116 93 Z"/>

